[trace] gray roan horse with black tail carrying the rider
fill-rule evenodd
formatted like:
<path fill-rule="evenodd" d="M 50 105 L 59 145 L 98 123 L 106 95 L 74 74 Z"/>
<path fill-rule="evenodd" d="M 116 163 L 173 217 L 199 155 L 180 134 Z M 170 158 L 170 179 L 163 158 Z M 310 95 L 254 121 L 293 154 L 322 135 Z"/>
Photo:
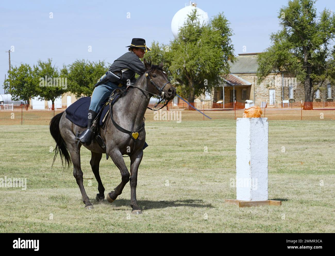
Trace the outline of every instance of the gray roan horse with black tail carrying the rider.
<path fill-rule="evenodd" d="M 114 121 L 128 131 L 137 131 L 144 125 L 144 114 L 153 94 L 160 94 L 159 96 L 164 97 L 165 102 L 172 100 L 176 96 L 175 87 L 168 81 L 166 73 L 162 70 L 163 63 L 151 65 L 150 62 L 145 60 L 143 63 L 146 72 L 133 85 L 130 85 L 127 93 L 113 106 Z M 73 124 L 65 116 L 66 112 L 64 111 L 52 118 L 50 122 L 50 133 L 57 143 L 53 163 L 58 152 L 62 159 L 62 164 L 64 160 L 65 166 L 69 166 L 70 160 L 72 161 L 73 176 L 79 186 L 85 208 L 92 209 L 93 205 L 89 201 L 83 185 L 83 173 L 80 167 L 81 144 L 79 143 L 77 148 L 77 142 L 75 141 L 77 132 L 81 133 L 85 128 Z M 108 193 L 107 200 L 113 202 L 122 193 L 124 186 L 130 180 L 132 213 L 142 213 L 136 200 L 136 185 L 137 171 L 143 156 L 142 147 L 145 142 L 145 129 L 142 129 L 138 134 L 138 138 L 134 140 L 130 137 L 130 134 L 120 131 L 113 125 L 110 115 L 108 115 L 106 122 L 104 129 L 99 127 L 101 137 L 106 142 L 106 150 L 102 149 L 95 139 L 92 140 L 89 146 L 84 145 L 92 154 L 90 165 L 98 182 L 99 191 L 96 195 L 96 200 L 103 201 L 105 199 L 105 188 L 99 175 L 99 163 L 102 154 L 107 153 L 121 172 L 121 183 L 114 191 Z M 129 152 L 129 148 L 133 149 L 131 150 L 132 152 Z M 123 154 L 127 154 L 130 157 L 130 174 L 123 160 Z"/>

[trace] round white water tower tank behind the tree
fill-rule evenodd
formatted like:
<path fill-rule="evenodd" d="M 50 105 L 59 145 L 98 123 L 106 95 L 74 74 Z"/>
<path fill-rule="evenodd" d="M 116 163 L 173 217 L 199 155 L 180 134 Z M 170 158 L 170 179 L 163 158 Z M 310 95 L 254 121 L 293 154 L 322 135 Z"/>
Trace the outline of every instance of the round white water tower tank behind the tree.
<path fill-rule="evenodd" d="M 180 9 L 172 18 L 171 30 L 175 39 L 178 38 L 179 28 L 184 25 L 184 22 L 188 18 L 187 15 L 191 14 L 194 9 L 197 9 L 197 15 L 199 15 L 198 19 L 200 21 L 200 25 L 208 24 L 209 19 L 207 12 L 198 8 L 196 3 L 190 1 L 189 4 L 185 4 L 185 7 Z"/>

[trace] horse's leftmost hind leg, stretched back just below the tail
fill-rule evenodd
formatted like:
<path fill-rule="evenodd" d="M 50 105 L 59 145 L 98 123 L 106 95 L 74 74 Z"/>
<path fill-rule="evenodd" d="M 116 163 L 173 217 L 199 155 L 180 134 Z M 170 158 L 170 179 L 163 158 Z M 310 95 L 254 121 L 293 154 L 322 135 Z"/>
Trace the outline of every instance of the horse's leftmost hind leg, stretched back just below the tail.
<path fill-rule="evenodd" d="M 76 178 L 77 184 L 79 186 L 83 202 L 85 204 L 86 209 L 93 209 L 93 205 L 88 199 L 88 196 L 86 194 L 86 191 L 84 189 L 83 185 L 83 172 L 81 171 L 80 167 L 80 147 L 79 150 L 77 150 L 76 143 L 74 143 L 74 146 L 71 145 L 69 148 L 69 152 L 71 155 L 72 159 L 72 164 L 73 164 L 73 176 Z"/>

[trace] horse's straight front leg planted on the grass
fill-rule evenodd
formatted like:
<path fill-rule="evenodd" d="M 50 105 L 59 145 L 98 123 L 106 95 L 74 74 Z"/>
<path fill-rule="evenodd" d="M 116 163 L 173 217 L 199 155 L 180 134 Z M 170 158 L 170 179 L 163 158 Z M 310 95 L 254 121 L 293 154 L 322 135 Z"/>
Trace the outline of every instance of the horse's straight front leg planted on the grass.
<path fill-rule="evenodd" d="M 136 153 L 130 155 L 130 193 L 131 201 L 130 206 L 133 208 L 132 213 L 141 214 L 142 211 L 137 204 L 136 200 L 136 186 L 137 186 L 137 171 L 138 167 L 142 161 L 143 149 L 139 149 Z"/>

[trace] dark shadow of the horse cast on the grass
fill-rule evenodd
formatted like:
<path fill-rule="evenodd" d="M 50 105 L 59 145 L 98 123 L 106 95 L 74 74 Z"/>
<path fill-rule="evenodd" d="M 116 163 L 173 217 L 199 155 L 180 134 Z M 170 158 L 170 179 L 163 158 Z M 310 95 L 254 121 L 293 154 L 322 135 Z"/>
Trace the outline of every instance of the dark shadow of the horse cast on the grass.
<path fill-rule="evenodd" d="M 91 202 L 93 205 L 98 204 L 96 200 L 95 202 Z M 104 204 L 110 204 L 106 199 Z M 214 208 L 211 204 L 204 203 L 203 200 L 200 199 L 189 199 L 189 200 L 174 200 L 174 201 L 150 201 L 150 200 L 137 200 L 140 208 L 143 209 L 162 209 L 167 207 L 179 207 L 179 206 L 188 206 L 188 207 L 197 207 L 197 208 Z M 130 206 L 129 199 L 116 199 L 112 204 L 116 207 L 120 206 Z"/>

